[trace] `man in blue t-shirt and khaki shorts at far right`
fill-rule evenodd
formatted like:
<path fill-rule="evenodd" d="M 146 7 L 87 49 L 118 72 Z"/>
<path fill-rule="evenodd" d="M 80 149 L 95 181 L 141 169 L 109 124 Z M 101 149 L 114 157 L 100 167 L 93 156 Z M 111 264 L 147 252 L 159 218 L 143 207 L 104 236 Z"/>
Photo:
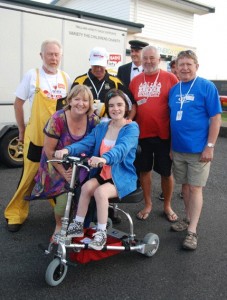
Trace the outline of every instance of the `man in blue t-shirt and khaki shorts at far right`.
<path fill-rule="evenodd" d="M 171 226 L 187 229 L 183 248 L 197 248 L 197 225 L 203 205 L 203 187 L 221 125 L 221 104 L 215 85 L 196 75 L 196 54 L 181 51 L 176 59 L 180 82 L 169 93 L 173 173 L 182 184 L 186 218 Z"/>

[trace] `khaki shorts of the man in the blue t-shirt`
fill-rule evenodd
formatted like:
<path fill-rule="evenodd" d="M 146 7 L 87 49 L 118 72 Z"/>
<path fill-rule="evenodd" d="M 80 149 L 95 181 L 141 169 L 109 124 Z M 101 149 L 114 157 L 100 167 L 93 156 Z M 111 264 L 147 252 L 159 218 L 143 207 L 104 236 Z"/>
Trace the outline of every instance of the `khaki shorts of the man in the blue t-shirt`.
<path fill-rule="evenodd" d="M 180 153 L 173 151 L 173 175 L 176 183 L 205 186 L 209 172 L 210 162 L 200 162 L 199 153 Z"/>

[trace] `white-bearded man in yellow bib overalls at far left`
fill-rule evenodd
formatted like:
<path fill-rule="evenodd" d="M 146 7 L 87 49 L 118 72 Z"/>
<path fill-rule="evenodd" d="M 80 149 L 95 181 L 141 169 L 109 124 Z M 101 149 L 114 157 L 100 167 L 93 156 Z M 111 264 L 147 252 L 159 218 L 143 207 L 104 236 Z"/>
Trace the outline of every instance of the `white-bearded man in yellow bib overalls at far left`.
<path fill-rule="evenodd" d="M 24 143 L 24 168 L 17 191 L 5 209 L 11 232 L 18 231 L 28 216 L 29 202 L 24 197 L 29 196 L 34 187 L 44 141 L 43 128 L 57 107 L 61 107 L 62 98 L 66 97 L 71 85 L 69 76 L 58 70 L 62 57 L 58 41 L 44 41 L 40 56 L 42 67 L 28 71 L 16 90 L 14 108 L 19 141 Z M 31 116 L 25 128 L 23 105 L 27 99 Z"/>

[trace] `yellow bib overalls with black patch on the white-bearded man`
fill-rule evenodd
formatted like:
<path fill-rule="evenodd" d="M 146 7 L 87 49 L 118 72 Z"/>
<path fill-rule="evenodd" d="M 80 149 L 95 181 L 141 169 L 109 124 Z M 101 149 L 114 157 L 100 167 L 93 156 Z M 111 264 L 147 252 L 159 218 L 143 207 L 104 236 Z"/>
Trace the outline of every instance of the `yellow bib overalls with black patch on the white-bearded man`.
<path fill-rule="evenodd" d="M 22 224 L 29 213 L 29 201 L 24 197 L 29 196 L 35 185 L 34 177 L 39 168 L 39 161 L 44 142 L 43 128 L 48 119 L 56 111 L 56 99 L 47 98 L 39 88 L 39 70 L 36 79 L 36 92 L 34 95 L 31 117 L 26 126 L 24 136 L 24 167 L 22 177 L 13 198 L 5 209 L 5 218 L 8 224 Z M 67 80 L 62 72 L 67 90 Z"/>

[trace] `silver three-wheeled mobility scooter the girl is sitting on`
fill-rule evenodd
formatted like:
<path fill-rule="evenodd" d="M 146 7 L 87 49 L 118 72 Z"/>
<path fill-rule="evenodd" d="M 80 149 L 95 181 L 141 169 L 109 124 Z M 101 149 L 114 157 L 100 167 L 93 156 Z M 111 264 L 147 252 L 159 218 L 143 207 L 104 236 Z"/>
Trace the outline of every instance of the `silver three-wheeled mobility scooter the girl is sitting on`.
<path fill-rule="evenodd" d="M 45 254 L 48 255 L 56 251 L 57 246 L 57 251 L 56 253 L 54 253 L 54 259 L 49 264 L 45 274 L 45 280 L 47 284 L 49 284 L 50 286 L 57 286 L 64 280 L 67 273 L 68 265 L 75 265 L 75 263 L 67 261 L 67 249 L 71 248 L 75 252 L 80 252 L 82 249 L 89 249 L 88 244 L 72 243 L 72 238 L 67 237 L 67 228 L 69 225 L 71 204 L 75 191 L 75 182 L 78 179 L 79 168 L 85 168 L 88 172 L 90 171 L 90 168 L 87 166 L 86 157 L 66 156 L 63 159 L 51 159 L 48 160 L 48 162 L 67 164 L 72 167 L 72 177 L 67 196 L 66 209 L 64 217 L 62 218 L 61 231 L 58 235 L 54 237 L 53 241 L 50 242 L 48 249 L 45 250 Z M 113 246 L 106 244 L 103 247 L 103 250 L 137 251 L 147 257 L 152 257 L 157 252 L 159 247 L 158 235 L 154 233 L 147 233 L 143 240 L 136 240 L 134 234 L 133 220 L 131 216 L 123 209 L 118 207 L 118 203 L 135 203 L 140 202 L 142 199 L 143 198 L 141 188 L 138 188 L 135 192 L 121 200 L 119 198 L 110 199 L 109 206 L 112 207 L 115 212 L 120 212 L 127 217 L 129 221 L 129 233 L 125 233 L 113 228 L 111 220 L 108 219 L 107 234 L 109 236 L 119 239 L 120 241 L 123 241 L 123 243 L 121 246 Z M 91 223 L 90 226 L 94 226 L 94 223 Z"/>

